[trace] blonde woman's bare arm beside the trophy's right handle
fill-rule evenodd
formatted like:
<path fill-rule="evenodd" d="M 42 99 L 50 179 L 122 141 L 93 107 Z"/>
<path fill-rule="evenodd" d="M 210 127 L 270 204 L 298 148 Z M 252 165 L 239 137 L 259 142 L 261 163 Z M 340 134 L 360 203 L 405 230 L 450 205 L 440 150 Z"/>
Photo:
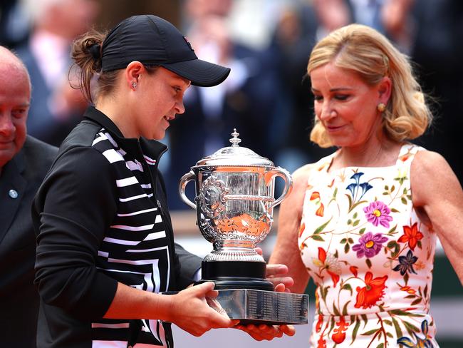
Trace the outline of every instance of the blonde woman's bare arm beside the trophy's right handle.
<path fill-rule="evenodd" d="M 293 190 L 283 200 L 279 212 L 279 228 L 270 264 L 288 266 L 288 277 L 293 278 L 291 292 L 303 293 L 309 279 L 306 267 L 301 260 L 298 247 L 298 230 L 301 225 L 304 195 L 306 194 L 310 165 L 305 165 L 293 173 Z"/>

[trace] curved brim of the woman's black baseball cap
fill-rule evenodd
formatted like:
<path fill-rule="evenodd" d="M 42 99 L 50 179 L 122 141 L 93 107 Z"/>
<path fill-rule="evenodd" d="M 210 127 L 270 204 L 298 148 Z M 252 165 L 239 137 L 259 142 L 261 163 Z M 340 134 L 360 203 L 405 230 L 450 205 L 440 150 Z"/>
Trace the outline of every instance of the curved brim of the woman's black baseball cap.
<path fill-rule="evenodd" d="M 177 73 L 182 78 L 187 78 L 187 80 L 192 81 L 192 85 L 201 87 L 217 86 L 225 81 L 225 78 L 230 73 L 230 68 L 202 61 L 201 59 L 160 64 L 160 66 Z"/>

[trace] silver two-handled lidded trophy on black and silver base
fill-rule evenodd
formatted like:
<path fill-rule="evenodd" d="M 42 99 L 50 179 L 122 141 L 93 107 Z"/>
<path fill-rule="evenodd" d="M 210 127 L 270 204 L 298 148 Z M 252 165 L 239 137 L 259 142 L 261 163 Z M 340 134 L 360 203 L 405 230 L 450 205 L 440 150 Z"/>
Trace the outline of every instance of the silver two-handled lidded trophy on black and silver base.
<path fill-rule="evenodd" d="M 197 225 L 214 249 L 202 262 L 202 280 L 219 290 L 217 302 L 231 319 L 268 324 L 306 324 L 308 296 L 274 292 L 265 279 L 266 263 L 254 249 L 269 234 L 276 205 L 291 192 L 291 175 L 249 148 L 240 147 L 239 133 L 231 133 L 231 146 L 199 160 L 180 179 L 180 196 L 197 211 Z M 276 177 L 285 181 L 274 198 Z M 196 183 L 193 203 L 185 195 Z"/>

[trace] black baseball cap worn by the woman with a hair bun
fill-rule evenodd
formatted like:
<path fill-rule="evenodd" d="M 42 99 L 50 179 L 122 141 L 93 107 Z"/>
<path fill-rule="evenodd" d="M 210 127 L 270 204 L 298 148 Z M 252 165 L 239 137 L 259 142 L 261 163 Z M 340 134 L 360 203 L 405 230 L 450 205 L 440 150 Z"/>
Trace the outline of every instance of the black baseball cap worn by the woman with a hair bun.
<path fill-rule="evenodd" d="M 162 66 L 187 78 L 195 86 L 216 86 L 230 68 L 198 59 L 192 45 L 170 22 L 152 14 L 124 19 L 106 36 L 102 69 L 126 68 L 131 61 Z"/>

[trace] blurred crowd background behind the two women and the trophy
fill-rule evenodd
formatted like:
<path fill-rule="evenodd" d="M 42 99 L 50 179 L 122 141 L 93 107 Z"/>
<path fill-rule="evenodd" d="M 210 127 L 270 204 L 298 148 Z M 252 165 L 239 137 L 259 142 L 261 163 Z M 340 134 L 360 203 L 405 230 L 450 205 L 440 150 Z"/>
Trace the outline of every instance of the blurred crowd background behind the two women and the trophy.
<path fill-rule="evenodd" d="M 61 143 L 87 106 L 68 81 L 76 76 L 69 72 L 71 42 L 91 27 L 109 29 L 134 14 L 171 21 L 199 58 L 231 68 L 219 86 L 189 88 L 184 96 L 187 111 L 168 130 L 165 143 L 170 151 L 161 170 L 174 223 L 192 216 L 177 193 L 180 177 L 197 160 L 228 146 L 233 128 L 240 133 L 240 145 L 290 172 L 333 152 L 308 140 L 313 99 L 306 64 L 318 39 L 353 22 L 373 26 L 410 56 L 435 113 L 434 125 L 416 143 L 444 155 L 463 183 L 463 1 L 1 0 L 0 44 L 13 48 L 31 74 L 28 133 L 53 145 Z M 188 188 L 187 194 L 192 197 L 193 191 Z M 192 223 L 180 228 L 179 238 L 190 251 L 202 254 L 192 241 L 202 238 L 194 220 L 188 221 Z M 194 237 L 187 230 L 194 231 Z M 272 240 L 270 235 L 264 241 L 264 255 L 271 252 Z M 442 318 L 436 317 L 441 347 L 463 347 L 463 324 L 456 324 L 463 317 L 462 286 L 442 249 L 436 257 L 432 300 L 432 312 L 442 312 Z M 215 339 L 206 335 L 203 343 L 207 337 Z M 306 347 L 308 332 L 298 337 L 301 346 L 293 347 Z M 179 347 L 192 345 L 179 342 Z"/>

